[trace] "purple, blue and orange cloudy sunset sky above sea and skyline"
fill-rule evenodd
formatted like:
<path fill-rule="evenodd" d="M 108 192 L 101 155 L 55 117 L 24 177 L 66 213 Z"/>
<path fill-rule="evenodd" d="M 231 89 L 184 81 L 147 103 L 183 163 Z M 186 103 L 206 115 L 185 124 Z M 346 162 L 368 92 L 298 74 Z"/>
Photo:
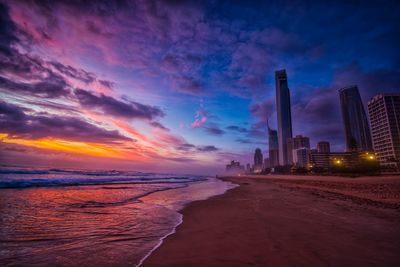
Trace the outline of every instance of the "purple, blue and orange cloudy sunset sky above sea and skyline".
<path fill-rule="evenodd" d="M 400 92 L 397 1 L 0 0 L 3 165 L 212 174 L 294 135 L 344 150 L 338 89 Z"/>

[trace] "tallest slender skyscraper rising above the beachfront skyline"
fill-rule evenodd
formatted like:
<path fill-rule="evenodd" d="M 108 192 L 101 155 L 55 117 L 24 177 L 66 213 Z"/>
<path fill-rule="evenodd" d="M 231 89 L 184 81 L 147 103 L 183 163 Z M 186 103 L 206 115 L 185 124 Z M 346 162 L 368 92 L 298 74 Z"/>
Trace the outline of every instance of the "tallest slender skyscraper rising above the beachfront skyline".
<path fill-rule="evenodd" d="M 292 137 L 292 114 L 290 108 L 290 91 L 285 70 L 275 72 L 276 109 L 278 114 L 278 147 L 279 165 L 289 162 L 287 140 Z"/>

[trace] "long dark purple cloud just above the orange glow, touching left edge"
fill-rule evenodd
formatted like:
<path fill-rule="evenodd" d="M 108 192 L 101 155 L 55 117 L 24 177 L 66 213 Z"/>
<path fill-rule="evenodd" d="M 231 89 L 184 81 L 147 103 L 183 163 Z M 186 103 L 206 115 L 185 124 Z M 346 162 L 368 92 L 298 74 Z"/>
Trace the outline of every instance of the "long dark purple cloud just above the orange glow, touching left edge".
<path fill-rule="evenodd" d="M 0 131 L 13 138 L 56 138 L 91 143 L 132 141 L 74 117 L 28 115 L 19 106 L 0 102 Z"/>

